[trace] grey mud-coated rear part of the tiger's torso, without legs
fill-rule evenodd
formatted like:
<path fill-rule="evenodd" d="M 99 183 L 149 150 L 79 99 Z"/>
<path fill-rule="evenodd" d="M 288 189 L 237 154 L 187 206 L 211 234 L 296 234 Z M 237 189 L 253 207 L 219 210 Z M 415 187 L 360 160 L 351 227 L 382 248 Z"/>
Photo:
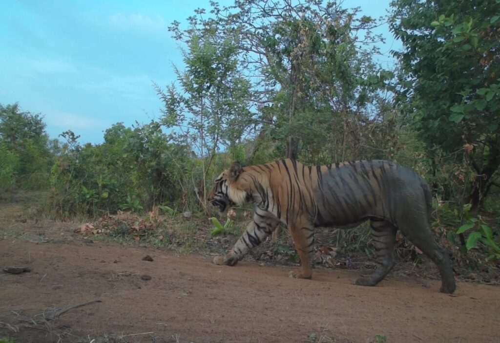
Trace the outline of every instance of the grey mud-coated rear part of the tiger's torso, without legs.
<path fill-rule="evenodd" d="M 390 161 L 338 163 L 319 170 L 313 188 L 317 226 L 349 225 L 368 218 L 385 219 L 397 226 L 399 216 L 407 212 L 402 207 L 426 211 L 422 178 Z"/>

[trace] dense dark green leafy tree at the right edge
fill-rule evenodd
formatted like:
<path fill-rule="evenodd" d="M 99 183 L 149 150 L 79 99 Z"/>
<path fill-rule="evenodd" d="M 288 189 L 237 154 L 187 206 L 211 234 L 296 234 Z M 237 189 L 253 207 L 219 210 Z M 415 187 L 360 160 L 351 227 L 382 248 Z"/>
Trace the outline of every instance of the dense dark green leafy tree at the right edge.
<path fill-rule="evenodd" d="M 500 1 L 395 0 L 390 29 L 407 77 L 398 101 L 429 147 L 473 169 L 466 201 L 479 206 L 500 166 Z"/>

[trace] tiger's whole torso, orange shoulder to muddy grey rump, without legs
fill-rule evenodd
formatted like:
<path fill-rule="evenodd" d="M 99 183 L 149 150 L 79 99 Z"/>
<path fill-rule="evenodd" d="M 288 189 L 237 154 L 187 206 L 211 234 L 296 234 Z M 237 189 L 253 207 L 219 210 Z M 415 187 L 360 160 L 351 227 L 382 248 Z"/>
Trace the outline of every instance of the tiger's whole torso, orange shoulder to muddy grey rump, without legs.
<path fill-rule="evenodd" d="M 407 207 L 420 213 L 428 208 L 422 188 L 425 181 L 390 161 L 306 166 L 283 159 L 265 164 L 264 169 L 270 172 L 276 202 L 269 207 L 285 223 L 307 215 L 314 226 L 352 226 L 369 218 L 386 219 L 397 226 Z"/>

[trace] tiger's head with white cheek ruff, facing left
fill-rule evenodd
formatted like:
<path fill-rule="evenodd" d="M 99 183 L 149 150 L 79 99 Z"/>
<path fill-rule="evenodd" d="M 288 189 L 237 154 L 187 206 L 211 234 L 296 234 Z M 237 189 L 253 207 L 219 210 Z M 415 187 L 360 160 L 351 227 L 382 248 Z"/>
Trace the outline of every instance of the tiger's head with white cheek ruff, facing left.
<path fill-rule="evenodd" d="M 218 208 L 221 217 L 224 217 L 229 208 L 235 204 L 242 204 L 247 197 L 239 180 L 242 171 L 241 164 L 233 162 L 215 179 L 213 187 L 206 197 L 213 206 Z"/>

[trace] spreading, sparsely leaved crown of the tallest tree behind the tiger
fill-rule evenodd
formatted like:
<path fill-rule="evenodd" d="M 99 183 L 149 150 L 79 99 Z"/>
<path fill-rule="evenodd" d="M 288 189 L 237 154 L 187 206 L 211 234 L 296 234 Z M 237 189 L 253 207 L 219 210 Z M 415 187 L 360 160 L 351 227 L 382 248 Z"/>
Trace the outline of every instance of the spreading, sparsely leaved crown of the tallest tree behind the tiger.
<path fill-rule="evenodd" d="M 189 41 L 193 32 L 212 32 L 214 44 L 237 37 L 239 68 L 251 81 L 250 103 L 259 113 L 254 124 L 264 131 L 257 137 L 283 141 L 281 155 L 297 158 L 311 141 L 311 125 L 324 128 L 342 116 L 345 128 L 347 121 L 361 126 L 377 117 L 369 108 L 377 90 L 365 80 L 390 75 L 371 61 L 372 43 L 381 38 L 372 33 L 376 20 L 360 16 L 359 8 L 343 9 L 340 1 L 237 0 L 222 8 L 211 2 L 212 16 L 204 14 L 197 9 L 185 30 L 174 21 L 173 36 Z M 335 127 L 338 132 L 342 125 Z"/>

